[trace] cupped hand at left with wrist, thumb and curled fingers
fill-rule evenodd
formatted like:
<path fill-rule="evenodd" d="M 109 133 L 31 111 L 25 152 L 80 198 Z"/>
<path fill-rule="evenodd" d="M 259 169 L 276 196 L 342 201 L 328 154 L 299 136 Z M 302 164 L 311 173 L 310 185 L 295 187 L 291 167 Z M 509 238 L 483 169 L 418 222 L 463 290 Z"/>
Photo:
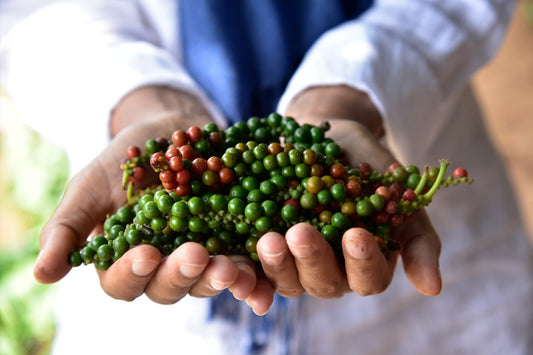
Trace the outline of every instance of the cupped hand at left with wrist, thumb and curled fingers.
<path fill-rule="evenodd" d="M 41 283 L 63 278 L 70 270 L 70 252 L 89 235 L 101 233 L 106 216 L 126 202 L 119 166 L 128 146 L 143 146 L 148 139 L 168 138 L 176 129 L 203 127 L 210 121 L 195 99 L 172 89 L 147 87 L 126 96 L 113 112 L 115 137 L 72 179 L 43 228 L 35 278 Z M 164 304 L 186 294 L 214 296 L 230 285 L 234 295 L 244 299 L 256 286 L 251 259 L 210 257 L 197 243 L 185 243 L 166 258 L 149 245 L 132 248 L 99 276 L 103 290 L 114 298 L 133 300 L 146 293 Z"/>

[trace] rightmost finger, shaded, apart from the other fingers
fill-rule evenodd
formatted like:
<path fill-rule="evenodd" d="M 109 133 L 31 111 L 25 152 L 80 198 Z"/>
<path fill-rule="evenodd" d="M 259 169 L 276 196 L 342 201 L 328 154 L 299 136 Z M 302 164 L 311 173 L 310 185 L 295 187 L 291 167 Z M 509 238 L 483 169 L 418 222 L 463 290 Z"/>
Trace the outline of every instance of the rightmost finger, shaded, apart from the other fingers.
<path fill-rule="evenodd" d="M 417 218 L 394 231 L 401 244 L 405 274 L 415 289 L 426 296 L 436 296 L 442 289 L 439 269 L 441 241 L 424 211 Z"/>

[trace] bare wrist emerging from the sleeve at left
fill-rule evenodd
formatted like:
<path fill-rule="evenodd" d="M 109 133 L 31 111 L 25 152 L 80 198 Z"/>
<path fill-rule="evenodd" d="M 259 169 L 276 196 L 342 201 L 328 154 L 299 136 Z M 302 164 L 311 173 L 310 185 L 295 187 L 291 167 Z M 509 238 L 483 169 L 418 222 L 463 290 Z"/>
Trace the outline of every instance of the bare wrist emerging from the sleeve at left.
<path fill-rule="evenodd" d="M 211 122 L 208 111 L 193 95 L 165 86 L 145 86 L 124 96 L 111 112 L 110 129 L 115 136 L 125 127 L 138 122 L 172 118 L 194 124 Z M 191 123 L 193 123 L 191 122 Z"/>

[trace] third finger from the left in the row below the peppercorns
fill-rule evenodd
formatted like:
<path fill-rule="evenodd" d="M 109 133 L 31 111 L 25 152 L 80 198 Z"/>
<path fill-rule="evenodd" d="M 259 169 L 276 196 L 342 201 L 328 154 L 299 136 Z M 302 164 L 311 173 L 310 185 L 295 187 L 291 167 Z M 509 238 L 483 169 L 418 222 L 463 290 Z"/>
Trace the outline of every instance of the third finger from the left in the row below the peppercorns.
<path fill-rule="evenodd" d="M 239 276 L 235 263 L 225 255 L 211 257 L 198 281 L 191 287 L 189 294 L 195 297 L 211 297 L 228 288 Z"/>

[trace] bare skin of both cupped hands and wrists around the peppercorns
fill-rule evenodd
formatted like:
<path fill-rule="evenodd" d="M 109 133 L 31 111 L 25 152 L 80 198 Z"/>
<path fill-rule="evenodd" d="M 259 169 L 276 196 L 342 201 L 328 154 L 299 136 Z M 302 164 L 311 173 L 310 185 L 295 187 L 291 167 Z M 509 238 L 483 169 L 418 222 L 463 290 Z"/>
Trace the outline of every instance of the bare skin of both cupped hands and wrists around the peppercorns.
<path fill-rule="evenodd" d="M 349 152 L 353 164 L 367 161 L 384 170 L 395 161 L 376 139 L 383 133 L 381 117 L 362 92 L 344 86 L 311 88 L 296 97 L 285 114 L 301 123 L 328 120 L 332 126 L 328 136 Z M 170 88 L 144 87 L 124 97 L 111 115 L 114 138 L 72 179 L 42 230 L 36 280 L 54 283 L 63 278 L 70 270 L 69 253 L 87 236 L 101 233 L 106 215 L 126 201 L 124 191 L 116 188 L 121 171 L 113 167 L 119 166 L 129 145 L 142 146 L 147 139 L 170 137 L 176 129 L 202 127 L 211 121 L 195 98 Z M 370 233 L 360 228 L 348 230 L 342 241 L 345 264 L 339 265 L 320 233 L 302 223 L 285 236 L 267 233 L 259 240 L 262 271 L 248 257 L 210 257 L 204 247 L 190 242 L 166 258 L 152 246 L 132 248 L 98 274 L 103 290 L 117 299 L 131 301 L 144 293 L 154 302 L 172 304 L 187 294 L 211 297 L 229 288 L 235 298 L 262 315 L 276 292 L 320 298 L 383 292 L 401 256 L 413 286 L 424 295 L 438 294 L 440 240 L 427 215 L 422 212 L 396 228 L 394 237 L 400 251 L 384 257 Z"/>

